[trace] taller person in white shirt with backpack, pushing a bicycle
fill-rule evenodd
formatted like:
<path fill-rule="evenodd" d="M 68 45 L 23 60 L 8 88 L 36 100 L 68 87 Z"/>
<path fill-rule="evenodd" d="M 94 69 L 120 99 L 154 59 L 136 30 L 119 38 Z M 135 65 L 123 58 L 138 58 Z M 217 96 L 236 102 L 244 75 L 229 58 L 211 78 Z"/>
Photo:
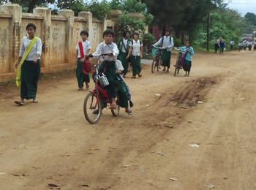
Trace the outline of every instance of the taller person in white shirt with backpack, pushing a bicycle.
<path fill-rule="evenodd" d="M 160 46 L 162 45 L 162 65 L 164 66 L 163 72 L 170 72 L 170 57 L 171 57 L 171 51 L 173 48 L 173 37 L 170 36 L 170 30 L 165 31 L 165 36 L 161 37 L 157 43 L 154 44 L 154 46 Z M 166 69 L 167 67 L 167 69 Z"/>

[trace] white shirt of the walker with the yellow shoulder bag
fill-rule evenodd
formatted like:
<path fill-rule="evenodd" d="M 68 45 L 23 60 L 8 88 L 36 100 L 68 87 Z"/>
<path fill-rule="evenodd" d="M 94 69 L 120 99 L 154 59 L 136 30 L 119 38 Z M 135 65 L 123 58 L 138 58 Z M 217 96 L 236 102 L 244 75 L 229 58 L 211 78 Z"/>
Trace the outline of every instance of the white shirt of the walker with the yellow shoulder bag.
<path fill-rule="evenodd" d="M 29 47 L 29 43 L 32 40 L 29 39 L 29 37 L 23 37 L 21 45 L 20 45 L 20 53 L 19 56 L 23 57 L 26 50 Z M 34 59 L 36 58 L 36 56 L 38 55 L 38 59 L 40 59 L 40 56 L 42 55 L 42 41 L 41 39 L 37 39 L 37 42 L 34 44 L 34 46 L 32 47 L 29 56 L 27 56 L 26 61 L 34 61 Z"/>

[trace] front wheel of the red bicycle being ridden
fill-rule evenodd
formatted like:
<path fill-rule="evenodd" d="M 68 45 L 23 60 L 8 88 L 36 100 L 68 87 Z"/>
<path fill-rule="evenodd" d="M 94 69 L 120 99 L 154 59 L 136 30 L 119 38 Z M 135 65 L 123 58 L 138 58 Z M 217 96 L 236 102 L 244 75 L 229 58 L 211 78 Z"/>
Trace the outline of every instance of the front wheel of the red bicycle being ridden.
<path fill-rule="evenodd" d="M 99 122 L 102 116 L 102 103 L 97 100 L 97 94 L 90 92 L 86 95 L 83 103 L 83 113 L 89 123 Z"/>

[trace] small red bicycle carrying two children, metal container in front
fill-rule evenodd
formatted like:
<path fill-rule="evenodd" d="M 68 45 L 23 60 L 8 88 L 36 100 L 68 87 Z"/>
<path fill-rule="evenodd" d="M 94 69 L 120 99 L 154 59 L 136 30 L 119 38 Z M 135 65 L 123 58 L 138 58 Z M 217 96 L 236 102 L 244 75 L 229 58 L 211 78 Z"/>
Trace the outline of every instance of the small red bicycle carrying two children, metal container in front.
<path fill-rule="evenodd" d="M 103 73 L 99 73 L 99 58 L 102 57 L 104 59 L 104 56 L 108 56 L 108 54 L 102 54 L 98 57 L 98 64 L 94 66 L 96 68 L 96 72 L 94 72 L 93 75 L 95 88 L 86 95 L 83 103 L 84 116 L 91 124 L 99 122 L 102 117 L 102 110 L 110 104 L 110 97 L 108 92 L 105 90 L 105 86 L 108 86 L 108 80 Z M 117 117 L 120 112 L 118 100 L 116 102 L 116 109 L 111 109 L 111 113 L 114 117 Z"/>

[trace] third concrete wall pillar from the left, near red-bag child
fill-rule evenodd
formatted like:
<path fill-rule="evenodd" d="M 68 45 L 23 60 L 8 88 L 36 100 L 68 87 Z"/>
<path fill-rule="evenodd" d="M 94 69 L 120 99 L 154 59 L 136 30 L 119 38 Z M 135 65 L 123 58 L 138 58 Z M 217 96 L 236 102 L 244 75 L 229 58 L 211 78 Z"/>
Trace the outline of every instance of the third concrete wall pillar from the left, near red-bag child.
<path fill-rule="evenodd" d="M 59 10 L 59 15 L 67 18 L 67 36 L 66 36 L 66 42 L 67 42 L 67 48 L 65 48 L 65 63 L 72 63 L 72 36 L 73 36 L 73 28 L 74 28 L 74 12 L 70 9 L 62 9 Z"/>

